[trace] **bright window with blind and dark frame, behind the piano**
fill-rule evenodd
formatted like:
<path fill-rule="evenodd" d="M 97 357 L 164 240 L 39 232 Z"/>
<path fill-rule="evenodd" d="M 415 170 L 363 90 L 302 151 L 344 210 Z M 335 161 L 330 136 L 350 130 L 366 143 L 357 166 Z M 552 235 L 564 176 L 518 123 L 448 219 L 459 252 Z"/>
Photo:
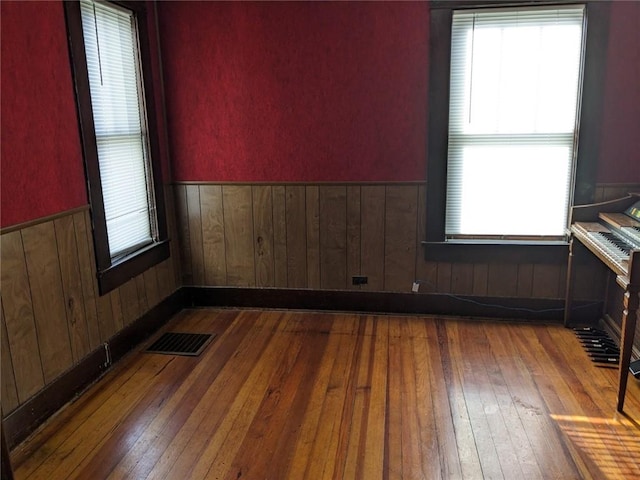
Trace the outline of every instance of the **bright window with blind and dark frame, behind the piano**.
<path fill-rule="evenodd" d="M 570 207 L 594 190 L 608 25 L 598 3 L 432 2 L 428 259 L 459 260 L 445 253 L 464 245 L 473 261 L 558 246 L 566 260 Z"/>

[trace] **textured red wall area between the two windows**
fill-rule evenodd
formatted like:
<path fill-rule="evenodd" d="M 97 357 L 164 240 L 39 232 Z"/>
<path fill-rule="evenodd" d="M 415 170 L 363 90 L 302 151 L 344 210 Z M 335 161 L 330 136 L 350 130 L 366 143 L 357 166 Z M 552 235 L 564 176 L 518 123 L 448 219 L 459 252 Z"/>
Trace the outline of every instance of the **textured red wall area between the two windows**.
<path fill-rule="evenodd" d="M 160 2 L 176 180 L 425 178 L 424 2 Z"/>

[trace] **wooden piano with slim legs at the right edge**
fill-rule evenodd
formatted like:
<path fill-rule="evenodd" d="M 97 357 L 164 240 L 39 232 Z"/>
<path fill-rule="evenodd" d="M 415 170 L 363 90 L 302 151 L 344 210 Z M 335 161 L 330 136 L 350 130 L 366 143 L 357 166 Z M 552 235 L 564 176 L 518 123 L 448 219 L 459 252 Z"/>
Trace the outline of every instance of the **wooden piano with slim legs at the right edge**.
<path fill-rule="evenodd" d="M 575 241 L 583 244 L 616 276 L 616 283 L 624 290 L 620 335 L 620 365 L 617 410 L 622 412 L 629 376 L 631 351 L 636 324 L 640 315 L 640 243 L 636 238 L 640 222 L 623 212 L 640 200 L 640 194 L 609 202 L 580 205 L 571 211 L 571 240 L 567 266 L 565 298 L 565 326 L 571 324 L 573 300 Z M 629 232 L 632 236 L 629 236 Z M 620 246 L 618 246 L 620 245 Z"/>

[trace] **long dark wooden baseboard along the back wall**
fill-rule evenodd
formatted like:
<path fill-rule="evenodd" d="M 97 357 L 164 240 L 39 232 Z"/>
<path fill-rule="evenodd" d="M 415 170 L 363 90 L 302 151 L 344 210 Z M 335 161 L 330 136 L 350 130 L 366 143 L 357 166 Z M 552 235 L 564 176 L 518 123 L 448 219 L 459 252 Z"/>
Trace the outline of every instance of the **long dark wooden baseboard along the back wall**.
<path fill-rule="evenodd" d="M 186 306 L 191 307 L 455 315 L 557 323 L 562 322 L 564 312 L 563 300 L 544 298 L 243 287 L 183 287 L 183 290 Z M 576 323 L 594 324 L 600 318 L 602 303 L 576 301 L 573 308 Z"/>

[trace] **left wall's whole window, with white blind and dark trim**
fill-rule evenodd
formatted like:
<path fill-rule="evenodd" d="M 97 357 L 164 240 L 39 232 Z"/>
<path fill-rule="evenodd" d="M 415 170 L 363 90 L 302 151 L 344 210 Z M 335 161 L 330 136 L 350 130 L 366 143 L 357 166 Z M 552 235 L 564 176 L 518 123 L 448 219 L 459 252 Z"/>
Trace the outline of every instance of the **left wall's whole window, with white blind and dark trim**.
<path fill-rule="evenodd" d="M 144 10 L 66 3 L 100 290 L 168 257 Z"/>

